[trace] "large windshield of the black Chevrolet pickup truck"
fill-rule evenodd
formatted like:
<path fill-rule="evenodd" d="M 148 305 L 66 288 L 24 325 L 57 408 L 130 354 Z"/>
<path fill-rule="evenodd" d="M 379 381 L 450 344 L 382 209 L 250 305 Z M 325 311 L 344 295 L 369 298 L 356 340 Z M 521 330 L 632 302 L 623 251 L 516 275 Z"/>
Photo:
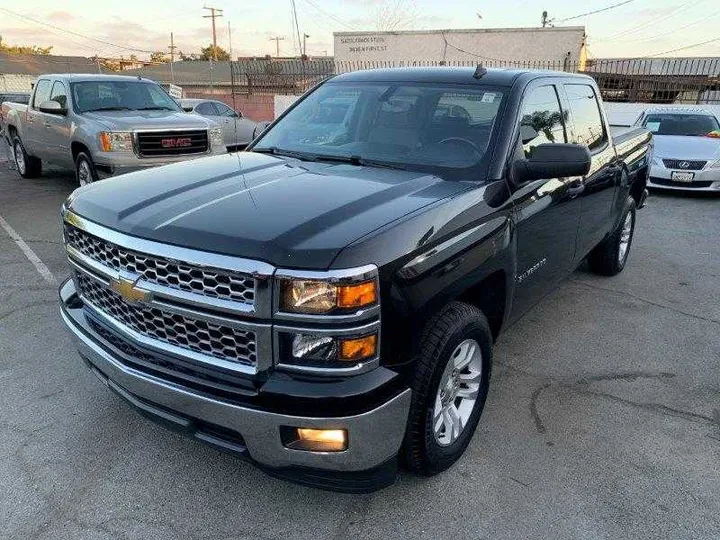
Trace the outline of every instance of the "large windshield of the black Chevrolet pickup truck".
<path fill-rule="evenodd" d="M 330 82 L 253 150 L 442 174 L 483 160 L 502 99 L 501 91 L 475 85 Z"/>

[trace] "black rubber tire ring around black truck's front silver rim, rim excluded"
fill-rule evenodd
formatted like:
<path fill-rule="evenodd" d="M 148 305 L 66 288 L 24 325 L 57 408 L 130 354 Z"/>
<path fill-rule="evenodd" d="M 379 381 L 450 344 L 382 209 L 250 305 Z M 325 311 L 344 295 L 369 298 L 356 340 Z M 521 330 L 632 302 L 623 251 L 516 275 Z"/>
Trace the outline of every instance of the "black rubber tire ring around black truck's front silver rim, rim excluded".
<path fill-rule="evenodd" d="M 468 420 L 467 424 L 463 428 L 462 433 L 458 439 L 450 444 L 449 446 L 441 446 L 437 440 L 435 440 L 435 434 L 433 432 L 433 410 L 435 407 L 435 396 L 438 391 L 440 380 L 442 379 L 443 372 L 447 363 L 451 361 L 451 354 L 455 348 L 465 339 L 474 339 L 480 346 L 482 352 L 482 379 L 480 382 L 480 388 L 478 391 L 478 398 L 475 402 L 475 408 Z M 433 375 L 428 384 L 424 408 L 425 408 L 425 420 L 424 420 L 424 436 L 425 436 L 425 453 L 427 461 L 430 466 L 429 472 L 439 472 L 454 463 L 465 451 L 470 440 L 472 439 L 475 428 L 477 427 L 482 411 L 485 407 L 485 401 L 487 399 L 488 390 L 490 387 L 490 376 L 492 370 L 492 336 L 490 335 L 487 323 L 484 319 L 470 319 L 465 324 L 455 328 L 445 339 L 438 358 L 440 361 L 436 362 Z"/>

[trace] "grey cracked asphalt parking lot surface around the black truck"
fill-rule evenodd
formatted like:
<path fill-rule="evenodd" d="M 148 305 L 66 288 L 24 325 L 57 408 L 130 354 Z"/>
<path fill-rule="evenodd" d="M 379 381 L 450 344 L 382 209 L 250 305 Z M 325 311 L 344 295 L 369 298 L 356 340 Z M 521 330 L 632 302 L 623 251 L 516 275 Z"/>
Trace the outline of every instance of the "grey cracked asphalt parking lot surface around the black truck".
<path fill-rule="evenodd" d="M 460 462 L 354 496 L 169 433 L 85 369 L 57 305 L 73 189 L 0 148 L 0 537 L 720 537 L 720 198 L 654 194 L 625 272 L 579 269 L 501 337 Z"/>

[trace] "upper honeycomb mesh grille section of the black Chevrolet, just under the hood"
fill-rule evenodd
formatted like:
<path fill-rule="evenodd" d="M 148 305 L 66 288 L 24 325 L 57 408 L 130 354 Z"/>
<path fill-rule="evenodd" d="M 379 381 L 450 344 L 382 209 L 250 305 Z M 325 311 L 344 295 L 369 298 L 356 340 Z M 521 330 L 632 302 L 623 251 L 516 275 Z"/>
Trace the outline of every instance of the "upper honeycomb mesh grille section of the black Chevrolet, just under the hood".
<path fill-rule="evenodd" d="M 125 270 L 172 289 L 244 304 L 255 301 L 255 280 L 248 275 L 190 266 L 117 246 L 72 225 L 65 225 L 67 242 L 83 255 L 114 270 Z"/>

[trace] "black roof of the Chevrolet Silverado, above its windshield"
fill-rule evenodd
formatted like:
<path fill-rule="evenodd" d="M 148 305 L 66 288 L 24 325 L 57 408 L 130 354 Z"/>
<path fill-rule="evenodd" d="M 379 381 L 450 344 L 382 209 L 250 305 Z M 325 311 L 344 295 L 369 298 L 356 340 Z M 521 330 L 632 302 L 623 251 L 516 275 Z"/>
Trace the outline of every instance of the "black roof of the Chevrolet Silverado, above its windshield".
<path fill-rule="evenodd" d="M 390 68 L 353 71 L 338 75 L 333 80 L 338 81 L 377 81 L 377 82 L 429 82 L 474 84 L 482 83 L 490 86 L 512 86 L 522 75 L 532 77 L 573 77 L 590 79 L 586 75 L 577 75 L 561 71 L 544 71 L 532 69 L 488 69 L 480 78 L 475 79 L 476 68 L 466 67 L 424 67 L 424 68 Z"/>

